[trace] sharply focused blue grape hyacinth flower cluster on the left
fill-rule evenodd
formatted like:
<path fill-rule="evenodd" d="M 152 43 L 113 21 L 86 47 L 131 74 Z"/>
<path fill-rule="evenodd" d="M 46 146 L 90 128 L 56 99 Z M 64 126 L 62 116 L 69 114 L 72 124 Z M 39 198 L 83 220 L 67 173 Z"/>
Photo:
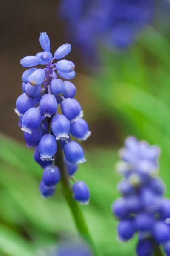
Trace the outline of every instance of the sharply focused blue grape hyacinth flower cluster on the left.
<path fill-rule="evenodd" d="M 60 170 L 53 164 L 57 140 L 65 154 L 68 175 L 72 176 L 78 164 L 86 160 L 81 145 L 71 141 L 70 134 L 79 140 L 86 140 L 91 132 L 87 122 L 82 119 L 81 105 L 74 99 L 76 87 L 67 81 L 76 74 L 74 63 L 62 59 L 71 52 L 71 45 L 63 44 L 53 57 L 48 35 L 40 33 L 39 41 L 44 51 L 35 56 L 26 56 L 20 61 L 23 67 L 29 69 L 22 75 L 23 93 L 17 98 L 15 112 L 19 116 L 18 125 L 24 131 L 26 145 L 35 148 L 34 160 L 44 168 L 40 192 L 48 197 L 53 195 L 60 180 Z M 54 63 L 55 59 L 59 61 Z M 46 67 L 35 68 L 37 65 Z M 58 76 L 67 80 L 62 81 Z M 59 106 L 62 114 L 57 112 Z M 89 189 L 83 181 L 74 183 L 72 190 L 75 200 L 82 203 L 88 201 Z"/>

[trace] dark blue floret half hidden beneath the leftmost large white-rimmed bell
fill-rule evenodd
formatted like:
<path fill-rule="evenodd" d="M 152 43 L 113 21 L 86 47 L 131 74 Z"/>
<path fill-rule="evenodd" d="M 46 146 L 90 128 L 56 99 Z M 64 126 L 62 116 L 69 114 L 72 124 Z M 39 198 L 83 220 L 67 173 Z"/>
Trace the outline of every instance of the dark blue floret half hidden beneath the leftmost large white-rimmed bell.
<path fill-rule="evenodd" d="M 28 147 L 36 147 L 39 144 L 40 139 L 43 136 L 43 133 L 44 131 L 41 125 L 39 125 L 37 129 L 32 131 L 31 134 L 24 131 L 24 139 L 26 140 L 26 145 Z"/>

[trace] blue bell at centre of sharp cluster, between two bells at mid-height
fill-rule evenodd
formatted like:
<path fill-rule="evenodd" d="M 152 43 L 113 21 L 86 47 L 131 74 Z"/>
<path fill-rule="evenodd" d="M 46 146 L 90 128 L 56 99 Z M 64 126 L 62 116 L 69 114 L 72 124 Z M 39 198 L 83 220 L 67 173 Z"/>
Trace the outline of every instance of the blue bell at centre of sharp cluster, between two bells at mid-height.
<path fill-rule="evenodd" d="M 40 100 L 40 111 L 46 117 L 51 117 L 57 111 L 57 101 L 53 94 L 44 94 Z"/>

